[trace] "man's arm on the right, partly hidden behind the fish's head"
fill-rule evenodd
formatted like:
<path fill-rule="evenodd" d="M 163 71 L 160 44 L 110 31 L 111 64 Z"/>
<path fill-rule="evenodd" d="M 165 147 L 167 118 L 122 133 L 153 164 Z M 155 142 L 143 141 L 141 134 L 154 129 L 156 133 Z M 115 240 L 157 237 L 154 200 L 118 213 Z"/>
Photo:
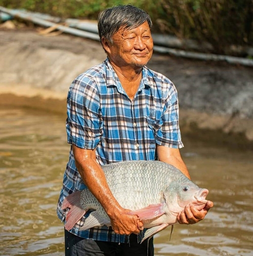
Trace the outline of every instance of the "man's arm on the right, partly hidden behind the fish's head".
<path fill-rule="evenodd" d="M 159 161 L 171 164 L 181 170 L 188 178 L 190 174 L 180 155 L 179 149 L 172 149 L 161 145 L 156 145 L 156 151 Z M 194 205 L 188 205 L 185 210 L 180 212 L 177 216 L 180 224 L 195 224 L 202 221 L 208 210 L 214 206 L 212 201 L 207 201 L 202 210 L 196 209 Z"/>

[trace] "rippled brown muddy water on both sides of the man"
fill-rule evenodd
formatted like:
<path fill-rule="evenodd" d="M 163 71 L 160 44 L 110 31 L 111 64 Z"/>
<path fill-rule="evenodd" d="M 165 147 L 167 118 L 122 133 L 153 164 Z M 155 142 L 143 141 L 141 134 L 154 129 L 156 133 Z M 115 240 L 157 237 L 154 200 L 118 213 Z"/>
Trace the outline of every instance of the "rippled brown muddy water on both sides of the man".
<path fill-rule="evenodd" d="M 0 255 L 64 255 L 56 203 L 68 159 L 65 117 L 0 109 Z M 192 179 L 215 208 L 205 220 L 155 236 L 158 255 L 253 255 L 253 154 L 185 138 Z"/>

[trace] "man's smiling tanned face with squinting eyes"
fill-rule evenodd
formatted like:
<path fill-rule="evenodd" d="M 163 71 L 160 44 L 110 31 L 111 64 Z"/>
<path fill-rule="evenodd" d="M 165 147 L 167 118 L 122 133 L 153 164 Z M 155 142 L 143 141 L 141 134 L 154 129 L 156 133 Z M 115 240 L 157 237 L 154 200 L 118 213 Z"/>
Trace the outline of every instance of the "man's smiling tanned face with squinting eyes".
<path fill-rule="evenodd" d="M 112 44 L 106 41 L 105 50 L 110 61 L 118 67 L 143 67 L 152 56 L 153 40 L 148 22 L 131 30 L 120 28 L 112 40 Z"/>

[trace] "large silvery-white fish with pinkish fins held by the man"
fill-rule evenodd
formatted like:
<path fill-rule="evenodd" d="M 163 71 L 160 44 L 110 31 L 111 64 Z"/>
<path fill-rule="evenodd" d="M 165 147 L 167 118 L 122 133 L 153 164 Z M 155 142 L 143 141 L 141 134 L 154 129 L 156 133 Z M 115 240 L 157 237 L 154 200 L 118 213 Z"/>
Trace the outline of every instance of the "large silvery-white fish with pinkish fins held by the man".
<path fill-rule="evenodd" d="M 177 215 L 192 203 L 203 209 L 207 189 L 200 189 L 176 167 L 160 161 L 123 161 L 102 166 L 105 176 L 119 204 L 131 209 L 144 224 L 144 238 L 177 223 Z M 93 210 L 80 228 L 110 226 L 110 218 L 98 200 L 88 190 L 67 196 L 62 209 L 70 208 L 65 228 L 70 230 L 89 210 Z"/>

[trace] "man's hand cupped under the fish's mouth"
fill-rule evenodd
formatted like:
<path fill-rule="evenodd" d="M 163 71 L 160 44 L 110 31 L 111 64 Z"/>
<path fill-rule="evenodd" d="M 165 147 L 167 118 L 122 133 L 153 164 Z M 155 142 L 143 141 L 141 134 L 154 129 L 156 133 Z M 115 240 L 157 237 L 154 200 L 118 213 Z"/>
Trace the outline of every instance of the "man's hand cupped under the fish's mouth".
<path fill-rule="evenodd" d="M 179 224 L 195 224 L 203 220 L 208 210 L 214 206 L 212 201 L 207 201 L 204 208 L 197 209 L 197 206 L 189 204 L 185 207 L 184 211 L 180 212 L 177 216 Z"/>

